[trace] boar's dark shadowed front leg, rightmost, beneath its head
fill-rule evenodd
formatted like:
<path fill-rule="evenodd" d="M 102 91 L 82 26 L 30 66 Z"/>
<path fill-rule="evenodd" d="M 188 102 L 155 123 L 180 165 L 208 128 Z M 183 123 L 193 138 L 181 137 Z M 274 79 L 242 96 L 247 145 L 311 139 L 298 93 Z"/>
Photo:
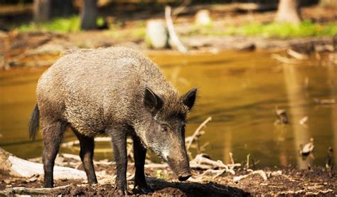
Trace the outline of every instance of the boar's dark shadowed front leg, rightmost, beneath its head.
<path fill-rule="evenodd" d="M 151 188 L 147 186 L 144 174 L 146 149 L 141 144 L 139 137 L 134 136 L 133 140 L 134 140 L 134 163 L 136 166 L 136 174 L 134 175 L 134 188 L 138 186 L 138 189 L 141 193 L 150 193 Z"/>

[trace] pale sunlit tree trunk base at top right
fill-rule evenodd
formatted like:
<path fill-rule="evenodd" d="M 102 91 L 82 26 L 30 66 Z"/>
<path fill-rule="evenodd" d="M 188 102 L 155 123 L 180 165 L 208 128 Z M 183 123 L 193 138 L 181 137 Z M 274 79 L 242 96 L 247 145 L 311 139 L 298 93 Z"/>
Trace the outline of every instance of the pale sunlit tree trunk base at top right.
<path fill-rule="evenodd" d="M 299 0 L 279 0 L 275 21 L 298 24 L 301 20 Z"/>

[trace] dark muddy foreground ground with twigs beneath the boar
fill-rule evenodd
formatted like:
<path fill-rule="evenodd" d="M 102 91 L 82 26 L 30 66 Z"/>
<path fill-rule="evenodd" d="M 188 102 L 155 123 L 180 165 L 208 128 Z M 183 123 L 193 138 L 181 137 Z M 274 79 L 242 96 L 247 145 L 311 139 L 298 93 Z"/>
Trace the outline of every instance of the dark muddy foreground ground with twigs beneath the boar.
<path fill-rule="evenodd" d="M 65 162 L 65 166 L 72 166 L 71 161 Z M 77 166 L 82 169 L 82 166 Z M 53 195 L 116 195 L 114 191 L 114 164 L 96 164 L 97 174 L 111 175 L 111 179 L 100 179 L 95 185 L 85 184 L 84 180 L 57 180 L 55 189 L 48 191 Z M 261 170 L 260 170 L 261 171 Z M 172 171 L 164 169 L 146 168 L 147 182 L 153 193 L 149 196 L 334 196 L 337 195 L 336 169 L 328 170 L 313 168 L 299 170 L 287 169 L 262 169 L 267 175 L 266 179 L 260 174 L 250 174 L 245 169 L 236 169 L 235 175 L 223 174 L 214 176 L 204 174 L 202 179 L 195 179 L 203 174 L 202 170 L 193 170 L 191 181 L 179 182 Z M 128 166 L 128 176 L 134 174 L 133 164 Z M 237 177 L 250 174 L 238 180 Z M 236 179 L 236 180 L 235 180 Z M 6 171 L 0 171 L 1 195 L 33 194 L 27 188 L 41 188 L 43 179 L 41 176 L 28 178 L 9 175 Z M 139 196 L 137 189 L 133 189 L 133 180 L 128 181 L 129 194 Z M 21 188 L 23 187 L 24 190 Z M 37 194 L 37 193 L 36 193 Z M 41 194 L 41 193 L 39 193 Z"/>

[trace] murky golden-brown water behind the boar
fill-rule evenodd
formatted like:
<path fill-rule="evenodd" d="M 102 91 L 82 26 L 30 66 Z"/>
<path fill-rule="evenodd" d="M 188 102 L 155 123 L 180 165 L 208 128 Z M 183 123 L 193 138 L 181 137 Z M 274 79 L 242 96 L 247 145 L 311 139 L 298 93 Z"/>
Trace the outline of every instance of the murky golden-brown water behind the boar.
<path fill-rule="evenodd" d="M 166 77 L 186 92 L 200 92 L 189 116 L 187 134 L 208 116 L 200 144 L 213 159 L 245 161 L 247 154 L 257 166 L 324 166 L 328 147 L 337 163 L 337 104 L 317 105 L 313 99 L 337 98 L 337 68 L 309 62 L 280 65 L 269 53 L 226 52 L 218 55 L 153 54 Z M 23 158 L 41 155 L 41 135 L 28 140 L 28 118 L 35 104 L 36 82 L 44 68 L 0 73 L 0 147 Z M 307 84 L 307 85 L 306 85 Z M 274 125 L 274 107 L 287 110 L 290 124 Z M 299 120 L 308 116 L 305 125 Z M 299 156 L 300 144 L 314 138 L 314 155 Z M 75 139 L 71 132 L 65 141 Z M 97 159 L 110 159 L 108 143 L 97 144 Z M 78 150 L 60 151 L 77 154 Z"/>

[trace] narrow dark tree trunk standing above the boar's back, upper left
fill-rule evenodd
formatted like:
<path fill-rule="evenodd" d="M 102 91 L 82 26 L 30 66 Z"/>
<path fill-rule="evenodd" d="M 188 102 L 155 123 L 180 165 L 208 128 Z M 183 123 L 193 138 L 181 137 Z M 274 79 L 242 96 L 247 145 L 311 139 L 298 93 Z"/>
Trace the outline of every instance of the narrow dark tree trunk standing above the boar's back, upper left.
<path fill-rule="evenodd" d="M 95 29 L 97 20 L 97 0 L 83 0 L 81 9 L 81 29 Z"/>

